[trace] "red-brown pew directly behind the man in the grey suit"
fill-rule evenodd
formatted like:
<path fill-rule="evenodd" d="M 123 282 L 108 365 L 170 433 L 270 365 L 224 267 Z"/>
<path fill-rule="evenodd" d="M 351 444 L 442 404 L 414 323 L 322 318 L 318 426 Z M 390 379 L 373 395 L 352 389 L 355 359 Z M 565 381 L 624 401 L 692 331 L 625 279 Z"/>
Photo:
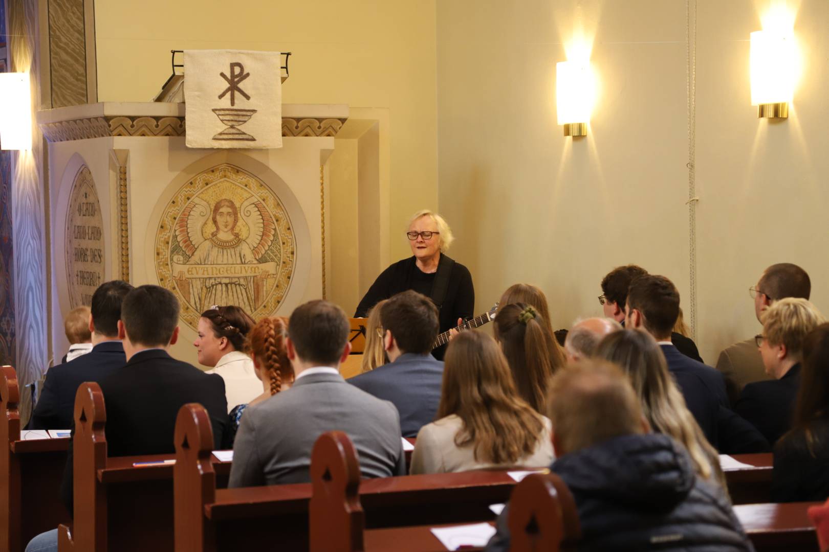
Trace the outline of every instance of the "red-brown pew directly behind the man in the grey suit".
<path fill-rule="evenodd" d="M 212 466 L 204 461 L 212 442 L 209 421 L 199 405 L 182 410 L 176 426 L 176 550 L 235 550 L 239 535 L 250 548 L 274 546 L 279 535 L 286 550 L 307 549 L 312 485 L 216 489 Z M 370 528 L 485 521 L 495 517 L 489 505 L 505 502 L 515 484 L 506 471 L 366 479 L 360 499 Z"/>

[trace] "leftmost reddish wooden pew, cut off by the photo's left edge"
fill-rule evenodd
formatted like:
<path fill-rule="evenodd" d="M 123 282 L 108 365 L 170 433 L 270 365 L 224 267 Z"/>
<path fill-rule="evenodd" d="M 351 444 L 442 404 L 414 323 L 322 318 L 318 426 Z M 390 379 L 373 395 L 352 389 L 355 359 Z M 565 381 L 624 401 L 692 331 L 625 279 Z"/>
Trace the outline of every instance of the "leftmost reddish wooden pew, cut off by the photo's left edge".
<path fill-rule="evenodd" d="M 19 400 L 14 368 L 0 367 L 0 552 L 69 520 L 59 492 L 69 439 L 21 440 Z"/>

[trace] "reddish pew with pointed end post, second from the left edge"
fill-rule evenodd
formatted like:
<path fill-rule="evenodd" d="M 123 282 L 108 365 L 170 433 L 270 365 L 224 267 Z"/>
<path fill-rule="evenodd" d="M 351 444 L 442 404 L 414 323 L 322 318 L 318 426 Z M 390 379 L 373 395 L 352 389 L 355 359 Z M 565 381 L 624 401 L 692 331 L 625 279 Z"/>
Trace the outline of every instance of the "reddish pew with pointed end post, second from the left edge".
<path fill-rule="evenodd" d="M 173 467 L 133 467 L 135 462 L 169 460 L 174 455 L 107 458 L 105 423 L 100 387 L 82 384 L 75 396 L 75 519 L 58 527 L 58 550 L 174 550 Z M 219 484 L 226 485 L 230 463 L 215 463 Z"/>

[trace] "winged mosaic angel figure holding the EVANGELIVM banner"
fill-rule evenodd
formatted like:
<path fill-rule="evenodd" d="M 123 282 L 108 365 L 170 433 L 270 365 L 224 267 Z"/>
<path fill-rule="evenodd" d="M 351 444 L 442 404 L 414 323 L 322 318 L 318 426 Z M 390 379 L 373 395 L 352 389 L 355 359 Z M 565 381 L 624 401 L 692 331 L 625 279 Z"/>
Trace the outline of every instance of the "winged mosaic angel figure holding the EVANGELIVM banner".
<path fill-rule="evenodd" d="M 250 229 L 245 239 L 236 228 L 240 216 Z M 208 218 L 215 230 L 205 238 L 203 228 Z M 261 300 L 262 281 L 273 275 L 263 270 L 242 276 L 245 271 L 240 265 L 259 266 L 259 259 L 274 242 L 275 233 L 274 218 L 255 196 L 246 199 L 239 209 L 230 199 L 219 199 L 213 209 L 204 199 L 192 199 L 182 209 L 175 235 L 189 256 L 185 264 L 198 265 L 203 270 L 196 272 L 195 277 L 186 277 L 182 272 L 176 275 L 182 294 L 198 311 L 211 305 L 238 305 L 252 314 Z"/>

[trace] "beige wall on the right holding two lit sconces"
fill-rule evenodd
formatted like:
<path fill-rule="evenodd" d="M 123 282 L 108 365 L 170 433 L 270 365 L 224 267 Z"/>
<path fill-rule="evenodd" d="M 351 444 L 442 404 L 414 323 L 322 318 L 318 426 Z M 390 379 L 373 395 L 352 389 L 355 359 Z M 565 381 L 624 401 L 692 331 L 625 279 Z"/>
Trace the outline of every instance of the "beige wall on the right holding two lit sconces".
<path fill-rule="evenodd" d="M 697 2 L 697 342 L 710 363 L 758 333 L 747 288 L 773 262 L 804 266 L 829 312 L 829 5 L 800 5 L 807 71 L 790 118 L 773 123 L 749 99 L 749 32 L 767 7 Z M 600 84 L 589 137 L 573 141 L 556 124 L 555 63 L 579 22 L 595 32 Z M 530 281 L 569 326 L 601 314 L 602 276 L 635 262 L 671 277 L 687 311 L 686 2 L 485 0 L 472 12 L 445 0 L 437 26 L 439 206 L 477 310 Z"/>

